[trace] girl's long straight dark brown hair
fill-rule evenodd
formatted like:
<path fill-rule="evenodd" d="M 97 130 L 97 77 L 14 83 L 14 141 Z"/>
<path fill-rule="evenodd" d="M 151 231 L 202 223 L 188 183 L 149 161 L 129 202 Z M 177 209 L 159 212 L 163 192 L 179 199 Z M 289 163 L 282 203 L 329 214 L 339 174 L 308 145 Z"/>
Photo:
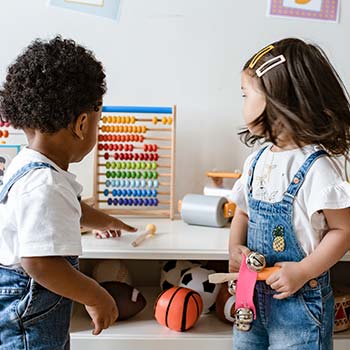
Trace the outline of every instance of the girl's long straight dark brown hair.
<path fill-rule="evenodd" d="M 350 146 L 350 106 L 348 93 L 324 51 L 316 45 L 288 38 L 243 71 L 257 80 L 266 96 L 264 112 L 252 123 L 262 130 L 253 135 L 247 128 L 239 135 L 246 145 L 259 139 L 278 144 L 283 132 L 297 145 L 320 144 L 333 155 L 345 154 Z M 260 78 L 256 70 L 273 57 L 286 59 Z"/>

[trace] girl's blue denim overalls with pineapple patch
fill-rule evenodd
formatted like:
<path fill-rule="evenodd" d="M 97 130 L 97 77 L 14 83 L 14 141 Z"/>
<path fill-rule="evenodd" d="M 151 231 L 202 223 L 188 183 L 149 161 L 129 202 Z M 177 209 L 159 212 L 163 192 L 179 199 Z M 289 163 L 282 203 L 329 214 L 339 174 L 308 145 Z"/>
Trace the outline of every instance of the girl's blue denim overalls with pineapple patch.
<path fill-rule="evenodd" d="M 247 245 L 250 250 L 265 256 L 267 266 L 280 261 L 300 261 L 305 253 L 294 232 L 293 201 L 314 161 L 327 153 L 317 151 L 311 154 L 295 174 L 283 199 L 268 203 L 252 196 L 254 169 L 265 149 L 257 154 L 248 173 Z M 283 232 L 285 248 L 282 252 L 273 249 L 273 231 L 277 227 Z M 276 292 L 265 282 L 257 282 L 254 293 L 256 320 L 249 332 L 234 327 L 234 350 L 331 350 L 334 300 L 329 272 L 316 280 L 314 288 L 307 283 L 283 300 L 274 299 Z"/>

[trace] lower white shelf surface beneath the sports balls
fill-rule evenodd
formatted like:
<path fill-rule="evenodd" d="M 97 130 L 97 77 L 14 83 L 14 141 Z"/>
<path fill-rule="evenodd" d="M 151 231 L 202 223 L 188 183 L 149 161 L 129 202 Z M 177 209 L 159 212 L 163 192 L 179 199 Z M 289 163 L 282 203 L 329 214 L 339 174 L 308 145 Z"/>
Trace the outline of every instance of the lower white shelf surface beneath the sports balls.
<path fill-rule="evenodd" d="M 147 300 L 146 308 L 127 321 L 115 323 L 100 335 L 91 334 L 91 321 L 85 309 L 75 307 L 71 324 L 72 350 L 123 349 L 123 350 L 232 350 L 232 327 L 223 323 L 215 313 L 203 314 L 187 332 L 175 332 L 161 326 L 153 317 L 153 305 L 159 290 L 140 288 Z M 334 335 L 334 350 L 348 350 L 350 331 Z"/>

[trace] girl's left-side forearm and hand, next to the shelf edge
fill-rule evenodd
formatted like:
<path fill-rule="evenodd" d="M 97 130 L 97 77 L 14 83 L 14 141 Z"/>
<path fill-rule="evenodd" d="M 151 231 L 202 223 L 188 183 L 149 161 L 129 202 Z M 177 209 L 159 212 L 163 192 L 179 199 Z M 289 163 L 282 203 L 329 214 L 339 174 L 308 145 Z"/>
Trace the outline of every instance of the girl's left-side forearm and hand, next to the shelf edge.
<path fill-rule="evenodd" d="M 238 272 L 241 266 L 242 253 L 248 255 L 250 250 L 245 246 L 247 243 L 248 215 L 236 208 L 231 222 L 229 239 L 229 271 Z"/>

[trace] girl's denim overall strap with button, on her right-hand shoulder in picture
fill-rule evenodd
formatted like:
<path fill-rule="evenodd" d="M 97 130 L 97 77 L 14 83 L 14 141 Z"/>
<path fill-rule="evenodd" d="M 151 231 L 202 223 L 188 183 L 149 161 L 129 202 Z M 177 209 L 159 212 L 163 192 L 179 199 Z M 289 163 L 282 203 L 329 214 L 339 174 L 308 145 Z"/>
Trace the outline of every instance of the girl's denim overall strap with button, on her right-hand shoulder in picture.
<path fill-rule="evenodd" d="M 328 156 L 328 153 L 324 150 L 319 150 L 312 153 L 299 168 L 294 175 L 292 182 L 289 184 L 287 191 L 284 193 L 283 201 L 290 204 L 293 203 L 295 196 L 297 195 L 301 185 L 305 180 L 307 172 L 310 170 L 312 164 L 320 157 Z"/>

